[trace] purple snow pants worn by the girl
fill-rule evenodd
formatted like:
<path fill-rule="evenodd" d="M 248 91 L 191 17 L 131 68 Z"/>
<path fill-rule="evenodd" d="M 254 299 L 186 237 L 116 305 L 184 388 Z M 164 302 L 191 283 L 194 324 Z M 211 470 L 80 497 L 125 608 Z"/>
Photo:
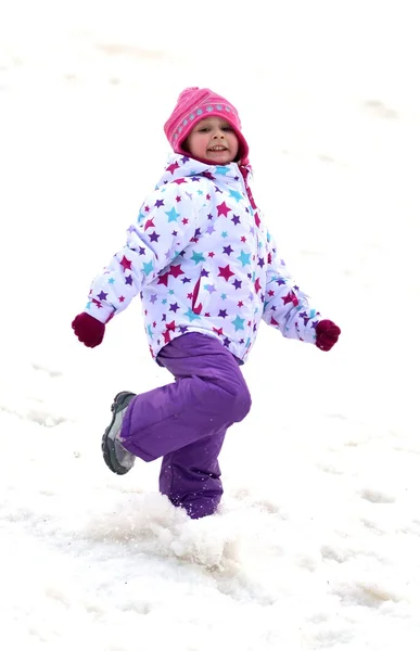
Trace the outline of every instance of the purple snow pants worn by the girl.
<path fill-rule="evenodd" d="M 222 495 L 217 458 L 227 429 L 250 411 L 250 392 L 236 357 L 205 334 L 175 339 L 158 362 L 175 382 L 131 400 L 124 447 L 144 461 L 163 457 L 161 493 L 191 518 L 211 515 Z"/>

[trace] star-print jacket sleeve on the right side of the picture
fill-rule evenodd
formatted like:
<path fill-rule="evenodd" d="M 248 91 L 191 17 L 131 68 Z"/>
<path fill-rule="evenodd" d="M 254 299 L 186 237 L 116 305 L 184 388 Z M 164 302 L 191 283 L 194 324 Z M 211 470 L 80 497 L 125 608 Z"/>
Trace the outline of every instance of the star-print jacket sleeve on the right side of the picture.
<path fill-rule="evenodd" d="M 293 280 L 278 256 L 276 243 L 267 233 L 268 267 L 263 319 L 288 339 L 315 343 L 321 316 L 309 305 L 309 297 Z"/>

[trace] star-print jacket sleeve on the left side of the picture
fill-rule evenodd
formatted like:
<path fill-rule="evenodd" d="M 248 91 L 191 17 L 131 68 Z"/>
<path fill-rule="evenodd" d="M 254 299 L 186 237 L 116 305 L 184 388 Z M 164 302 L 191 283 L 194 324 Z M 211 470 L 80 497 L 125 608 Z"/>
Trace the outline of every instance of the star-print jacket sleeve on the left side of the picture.
<path fill-rule="evenodd" d="M 91 284 L 85 311 L 106 323 L 187 246 L 194 237 L 193 201 L 169 183 L 150 194 L 137 221 L 127 229 L 127 242 Z"/>

